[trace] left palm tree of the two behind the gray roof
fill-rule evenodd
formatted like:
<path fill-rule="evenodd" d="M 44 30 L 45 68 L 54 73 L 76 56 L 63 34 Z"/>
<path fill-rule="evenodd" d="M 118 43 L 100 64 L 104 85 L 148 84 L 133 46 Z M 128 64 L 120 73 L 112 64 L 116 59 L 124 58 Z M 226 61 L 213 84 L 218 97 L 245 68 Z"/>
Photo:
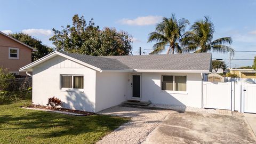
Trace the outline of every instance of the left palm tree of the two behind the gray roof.
<path fill-rule="evenodd" d="M 185 32 L 186 26 L 189 25 L 189 21 L 185 18 L 177 20 L 175 14 L 172 14 L 171 18 L 163 18 L 161 23 L 156 25 L 156 30 L 149 34 L 148 42 L 156 41 L 150 54 L 158 54 L 165 50 L 165 46 L 168 46 L 167 53 L 172 51 L 181 53 L 182 49 L 179 46 L 180 38 Z"/>

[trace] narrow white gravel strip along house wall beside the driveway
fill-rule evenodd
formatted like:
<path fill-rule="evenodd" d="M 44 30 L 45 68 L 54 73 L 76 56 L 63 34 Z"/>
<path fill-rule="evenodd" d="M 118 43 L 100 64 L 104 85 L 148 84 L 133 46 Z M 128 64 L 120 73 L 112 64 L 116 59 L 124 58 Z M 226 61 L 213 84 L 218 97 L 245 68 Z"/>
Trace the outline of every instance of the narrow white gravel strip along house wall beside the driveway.
<path fill-rule="evenodd" d="M 215 109 L 204 109 L 187 106 L 150 104 L 149 107 L 171 109 L 176 111 L 193 111 L 196 113 L 218 114 Z"/>

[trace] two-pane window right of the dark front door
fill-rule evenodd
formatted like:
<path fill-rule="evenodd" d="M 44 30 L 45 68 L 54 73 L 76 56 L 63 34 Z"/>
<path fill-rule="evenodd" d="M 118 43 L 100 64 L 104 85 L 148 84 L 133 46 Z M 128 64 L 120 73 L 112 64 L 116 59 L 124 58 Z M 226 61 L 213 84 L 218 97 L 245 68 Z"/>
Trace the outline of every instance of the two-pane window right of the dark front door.
<path fill-rule="evenodd" d="M 187 76 L 162 76 L 162 90 L 186 91 Z"/>

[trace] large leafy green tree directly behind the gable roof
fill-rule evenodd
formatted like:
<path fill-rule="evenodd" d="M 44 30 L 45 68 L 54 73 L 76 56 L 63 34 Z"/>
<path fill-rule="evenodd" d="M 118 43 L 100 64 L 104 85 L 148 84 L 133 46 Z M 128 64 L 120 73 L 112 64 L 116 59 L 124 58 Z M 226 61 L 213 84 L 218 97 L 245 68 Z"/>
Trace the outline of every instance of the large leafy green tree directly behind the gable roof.
<path fill-rule="evenodd" d="M 132 36 L 114 28 L 100 29 L 93 19 L 87 25 L 84 17 L 73 17 L 72 26 L 53 28 L 50 38 L 58 51 L 87 55 L 128 55 L 132 51 Z"/>

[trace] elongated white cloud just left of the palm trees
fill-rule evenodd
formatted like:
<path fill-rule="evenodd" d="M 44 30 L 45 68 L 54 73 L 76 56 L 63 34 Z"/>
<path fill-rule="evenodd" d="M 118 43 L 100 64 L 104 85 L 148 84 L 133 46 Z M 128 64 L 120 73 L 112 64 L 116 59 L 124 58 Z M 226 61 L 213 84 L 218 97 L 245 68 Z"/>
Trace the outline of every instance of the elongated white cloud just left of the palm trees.
<path fill-rule="evenodd" d="M 148 15 L 147 17 L 138 17 L 136 19 L 122 19 L 118 22 L 122 23 L 123 25 L 147 26 L 154 25 L 155 23 L 161 21 L 161 19 L 161 16 Z"/>

